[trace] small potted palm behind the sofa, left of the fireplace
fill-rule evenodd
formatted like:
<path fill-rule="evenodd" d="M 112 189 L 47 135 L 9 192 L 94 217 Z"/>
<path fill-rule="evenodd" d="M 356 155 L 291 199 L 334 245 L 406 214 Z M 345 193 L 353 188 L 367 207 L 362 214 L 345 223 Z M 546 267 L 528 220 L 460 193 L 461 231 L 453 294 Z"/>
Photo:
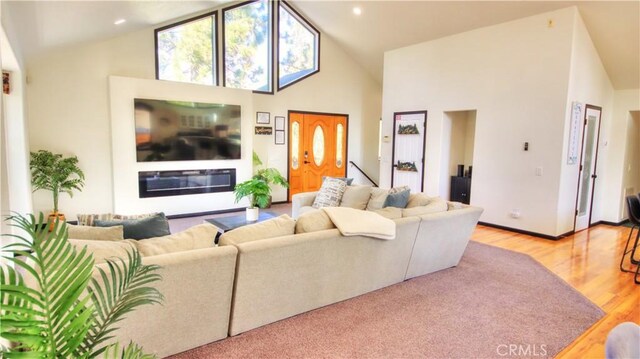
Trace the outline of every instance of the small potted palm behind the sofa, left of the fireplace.
<path fill-rule="evenodd" d="M 80 191 L 84 186 L 84 173 L 78 167 L 78 157 L 64 158 L 61 154 L 45 150 L 31 152 L 29 168 L 33 191 L 44 189 L 53 194 L 53 212 L 49 215 L 49 222 L 56 219 L 64 221 L 64 214 L 58 212 L 60 193 L 73 197 L 73 191 Z"/>

